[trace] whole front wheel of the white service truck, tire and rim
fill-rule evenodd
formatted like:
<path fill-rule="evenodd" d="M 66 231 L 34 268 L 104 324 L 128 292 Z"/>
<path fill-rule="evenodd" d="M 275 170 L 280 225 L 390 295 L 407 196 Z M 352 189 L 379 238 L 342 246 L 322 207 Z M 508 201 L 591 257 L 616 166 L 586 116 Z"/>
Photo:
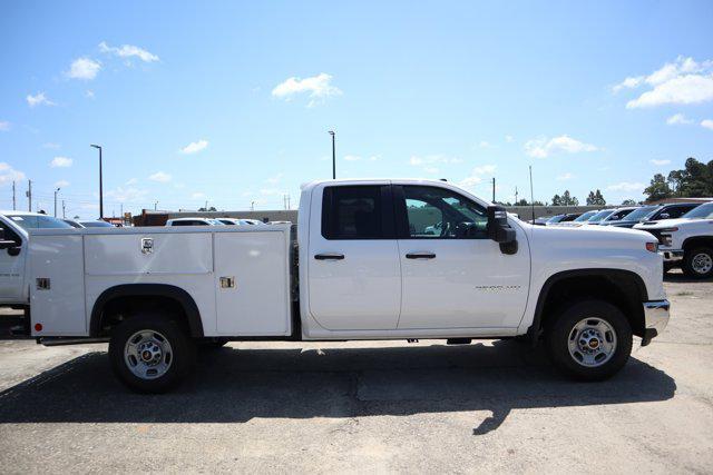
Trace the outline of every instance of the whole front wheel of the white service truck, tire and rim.
<path fill-rule="evenodd" d="M 632 327 L 618 307 L 586 300 L 566 307 L 547 331 L 554 365 L 582 380 L 616 374 L 632 353 Z"/>

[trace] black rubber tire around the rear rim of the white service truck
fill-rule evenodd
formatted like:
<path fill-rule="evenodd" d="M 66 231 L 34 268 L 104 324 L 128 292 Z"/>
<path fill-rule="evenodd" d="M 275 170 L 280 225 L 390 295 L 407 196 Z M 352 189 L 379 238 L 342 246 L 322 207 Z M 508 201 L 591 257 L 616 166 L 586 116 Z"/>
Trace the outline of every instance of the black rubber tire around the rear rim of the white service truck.
<path fill-rule="evenodd" d="M 126 345 L 138 331 L 154 331 L 170 349 L 167 369 L 155 378 L 138 377 L 129 367 L 125 358 Z M 136 338 L 135 338 L 136 339 Z M 166 356 L 167 357 L 167 356 Z M 139 314 L 117 326 L 109 342 L 109 360 L 117 377 L 130 389 L 137 393 L 165 393 L 175 388 L 192 372 L 195 360 L 195 345 L 180 326 L 165 316 L 156 314 Z"/>

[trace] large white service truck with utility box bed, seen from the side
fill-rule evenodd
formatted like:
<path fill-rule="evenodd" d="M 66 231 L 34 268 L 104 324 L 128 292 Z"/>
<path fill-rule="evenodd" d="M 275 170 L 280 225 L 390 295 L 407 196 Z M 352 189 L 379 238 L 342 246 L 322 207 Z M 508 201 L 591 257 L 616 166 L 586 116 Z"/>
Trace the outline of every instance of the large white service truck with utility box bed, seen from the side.
<path fill-rule="evenodd" d="M 305 185 L 293 234 L 33 231 L 31 334 L 109 342 L 126 385 L 163 392 L 196 346 L 250 339 L 544 337 L 563 372 L 602 379 L 624 366 L 632 335 L 646 345 L 668 320 L 649 234 L 530 226 L 443 181 Z"/>

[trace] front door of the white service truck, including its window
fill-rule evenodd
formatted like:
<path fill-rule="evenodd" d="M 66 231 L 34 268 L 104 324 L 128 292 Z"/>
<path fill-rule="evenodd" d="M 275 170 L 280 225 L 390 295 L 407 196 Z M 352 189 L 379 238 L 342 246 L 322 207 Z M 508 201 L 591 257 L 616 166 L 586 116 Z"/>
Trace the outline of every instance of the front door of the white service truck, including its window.
<path fill-rule="evenodd" d="M 399 329 L 517 327 L 527 304 L 530 259 L 487 238 L 487 210 L 434 186 L 394 186 L 402 273 Z M 472 230 L 463 232 L 465 222 Z M 475 226 L 475 227 L 473 227 Z"/>

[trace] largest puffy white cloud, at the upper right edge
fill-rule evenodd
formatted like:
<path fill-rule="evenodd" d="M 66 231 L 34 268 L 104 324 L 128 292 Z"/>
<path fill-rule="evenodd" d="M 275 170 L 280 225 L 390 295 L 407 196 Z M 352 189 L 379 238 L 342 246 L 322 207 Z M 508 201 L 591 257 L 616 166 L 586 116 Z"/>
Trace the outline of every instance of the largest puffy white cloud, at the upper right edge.
<path fill-rule="evenodd" d="M 662 105 L 690 105 L 713 100 L 713 61 L 697 62 L 693 58 L 680 56 L 648 76 L 626 78 L 615 86 L 622 89 L 637 89 L 646 86 L 649 90 L 626 103 L 627 109 L 656 107 Z"/>

